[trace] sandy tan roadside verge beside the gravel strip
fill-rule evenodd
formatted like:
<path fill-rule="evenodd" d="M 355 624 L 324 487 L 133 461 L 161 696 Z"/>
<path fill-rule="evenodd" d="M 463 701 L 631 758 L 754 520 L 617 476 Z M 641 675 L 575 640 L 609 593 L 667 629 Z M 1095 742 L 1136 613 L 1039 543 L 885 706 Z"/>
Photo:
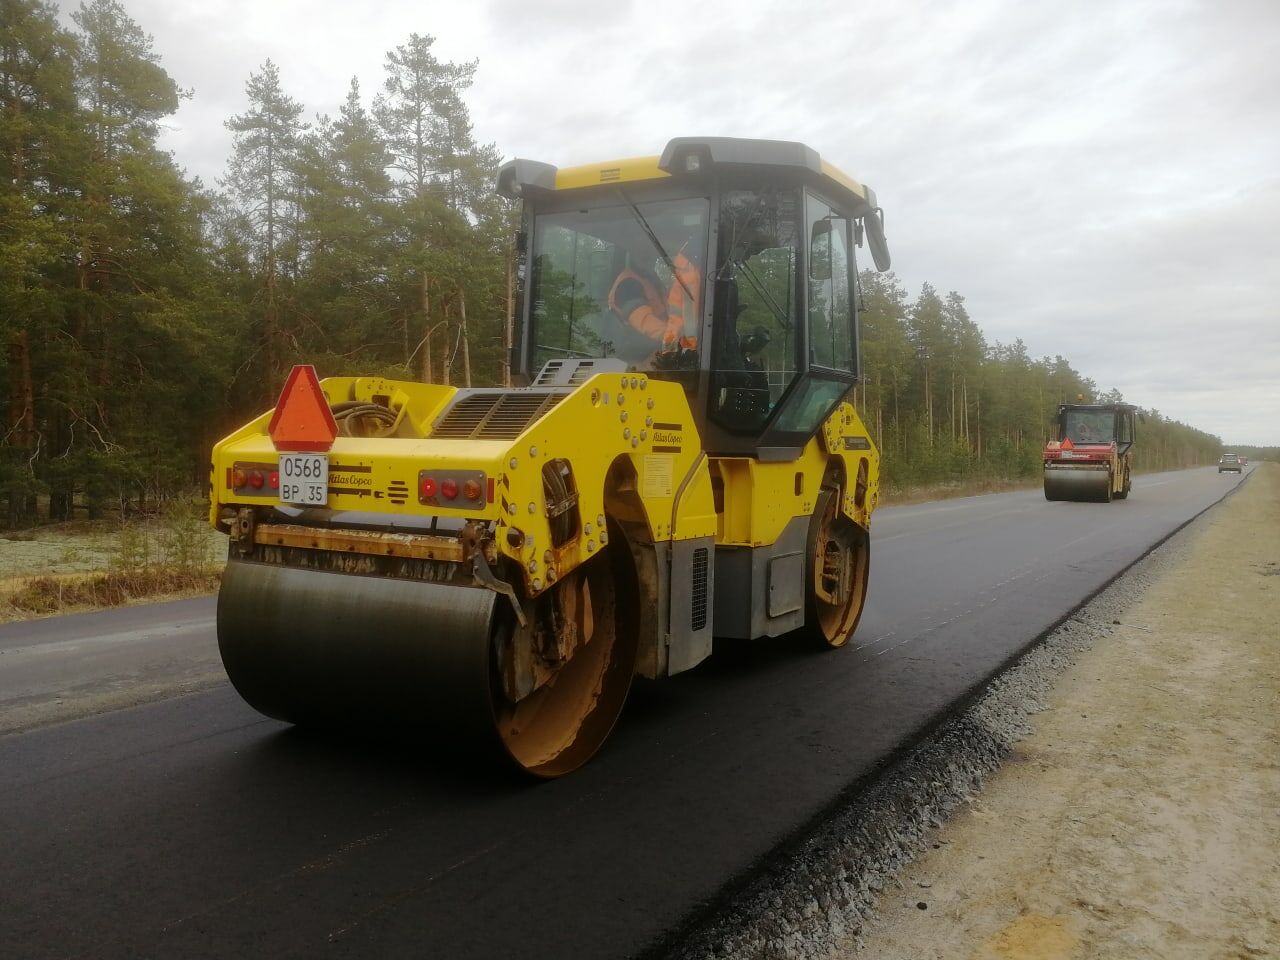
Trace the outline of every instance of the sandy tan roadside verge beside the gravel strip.
<path fill-rule="evenodd" d="M 1280 957 L 1280 467 L 1198 525 L 837 957 Z"/>

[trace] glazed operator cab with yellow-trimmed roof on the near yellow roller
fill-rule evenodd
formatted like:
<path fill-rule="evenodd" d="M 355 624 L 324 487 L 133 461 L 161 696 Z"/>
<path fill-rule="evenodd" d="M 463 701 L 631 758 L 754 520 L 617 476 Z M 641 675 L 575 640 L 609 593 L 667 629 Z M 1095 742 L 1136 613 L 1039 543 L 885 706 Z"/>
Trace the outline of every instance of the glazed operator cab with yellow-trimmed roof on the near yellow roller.
<path fill-rule="evenodd" d="M 672 140 L 660 157 L 502 168 L 524 200 L 512 369 L 676 380 L 704 449 L 794 460 L 860 372 L 855 250 L 890 266 L 870 188 L 800 143 Z"/>

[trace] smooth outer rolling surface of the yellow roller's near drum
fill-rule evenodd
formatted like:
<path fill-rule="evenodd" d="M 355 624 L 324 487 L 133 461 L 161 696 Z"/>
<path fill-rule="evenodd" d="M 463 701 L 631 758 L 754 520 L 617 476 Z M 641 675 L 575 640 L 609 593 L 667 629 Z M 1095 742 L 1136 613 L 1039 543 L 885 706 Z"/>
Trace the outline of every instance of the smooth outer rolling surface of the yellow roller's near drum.
<path fill-rule="evenodd" d="M 495 745 L 498 599 L 480 588 L 230 559 L 218 646 L 232 685 L 269 717 Z"/>

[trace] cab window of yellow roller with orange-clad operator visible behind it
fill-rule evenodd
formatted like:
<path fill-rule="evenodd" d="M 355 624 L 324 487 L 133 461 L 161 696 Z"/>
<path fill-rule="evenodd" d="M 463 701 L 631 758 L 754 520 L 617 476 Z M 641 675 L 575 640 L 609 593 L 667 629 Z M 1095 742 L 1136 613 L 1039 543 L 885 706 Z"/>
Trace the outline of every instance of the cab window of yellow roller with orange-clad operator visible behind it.
<path fill-rule="evenodd" d="M 696 369 L 707 225 L 704 197 L 631 202 L 534 220 L 534 369 L 613 357 L 634 370 Z"/>

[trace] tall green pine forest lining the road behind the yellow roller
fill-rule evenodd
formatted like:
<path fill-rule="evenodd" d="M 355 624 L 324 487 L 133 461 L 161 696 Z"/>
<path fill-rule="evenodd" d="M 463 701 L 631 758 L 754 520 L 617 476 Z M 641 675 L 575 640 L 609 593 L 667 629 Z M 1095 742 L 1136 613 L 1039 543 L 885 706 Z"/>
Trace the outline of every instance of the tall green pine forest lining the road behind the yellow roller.
<path fill-rule="evenodd" d="M 324 375 L 502 383 L 515 211 L 476 143 L 476 63 L 430 36 L 387 54 L 367 99 L 307 119 L 270 61 L 216 187 L 156 145 L 188 91 L 115 0 L 64 29 L 0 0 L 0 503 L 5 522 L 96 513 L 202 481 L 212 442 L 297 361 Z M 675 132 L 672 132 L 675 133 Z M 863 278 L 859 404 L 891 481 L 1034 474 L 1055 404 L 1094 385 L 1021 342 L 987 344 L 964 300 Z M 1148 468 L 1216 438 L 1139 428 Z"/>

